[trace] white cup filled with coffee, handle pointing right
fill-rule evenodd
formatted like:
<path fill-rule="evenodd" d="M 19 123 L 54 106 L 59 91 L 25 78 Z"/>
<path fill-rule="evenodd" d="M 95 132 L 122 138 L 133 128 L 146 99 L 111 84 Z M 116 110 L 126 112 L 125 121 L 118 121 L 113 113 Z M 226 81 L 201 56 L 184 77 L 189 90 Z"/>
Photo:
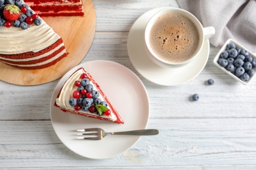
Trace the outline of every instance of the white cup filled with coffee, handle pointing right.
<path fill-rule="evenodd" d="M 144 48 L 157 65 L 182 67 L 200 54 L 205 40 L 214 34 L 214 27 L 203 27 L 190 12 L 170 7 L 160 10 L 148 21 L 144 31 Z"/>

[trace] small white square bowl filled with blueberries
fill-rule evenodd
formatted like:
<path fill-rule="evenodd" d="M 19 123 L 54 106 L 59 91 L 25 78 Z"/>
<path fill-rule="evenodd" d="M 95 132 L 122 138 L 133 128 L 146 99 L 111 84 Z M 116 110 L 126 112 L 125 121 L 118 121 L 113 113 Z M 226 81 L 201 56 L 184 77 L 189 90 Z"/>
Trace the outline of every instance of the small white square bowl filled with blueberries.
<path fill-rule="evenodd" d="M 228 39 L 224 43 L 213 63 L 245 85 L 255 76 L 256 55 L 233 39 Z"/>

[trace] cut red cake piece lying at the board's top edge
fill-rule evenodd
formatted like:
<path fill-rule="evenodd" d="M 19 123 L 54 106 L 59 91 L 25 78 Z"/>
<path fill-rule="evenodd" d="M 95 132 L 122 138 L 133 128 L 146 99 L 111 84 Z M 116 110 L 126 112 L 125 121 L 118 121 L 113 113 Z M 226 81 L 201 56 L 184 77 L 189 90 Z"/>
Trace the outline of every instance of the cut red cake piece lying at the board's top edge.
<path fill-rule="evenodd" d="M 39 16 L 83 16 L 82 0 L 25 0 Z"/>

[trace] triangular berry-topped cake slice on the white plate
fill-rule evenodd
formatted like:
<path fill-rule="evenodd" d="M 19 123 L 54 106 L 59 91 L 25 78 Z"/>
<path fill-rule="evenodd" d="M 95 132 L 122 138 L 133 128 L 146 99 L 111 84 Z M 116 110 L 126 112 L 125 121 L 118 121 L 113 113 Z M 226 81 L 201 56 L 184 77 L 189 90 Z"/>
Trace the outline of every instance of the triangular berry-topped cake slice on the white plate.
<path fill-rule="evenodd" d="M 64 112 L 124 123 L 100 86 L 82 67 L 66 80 L 56 97 L 54 106 Z"/>

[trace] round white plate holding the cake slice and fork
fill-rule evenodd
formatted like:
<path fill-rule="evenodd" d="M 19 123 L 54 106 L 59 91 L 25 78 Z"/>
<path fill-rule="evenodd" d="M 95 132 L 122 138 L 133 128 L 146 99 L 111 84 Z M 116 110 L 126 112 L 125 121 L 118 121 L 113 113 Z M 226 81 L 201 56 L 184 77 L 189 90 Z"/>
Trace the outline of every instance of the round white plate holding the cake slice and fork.
<path fill-rule="evenodd" d="M 116 124 L 95 118 L 62 112 L 54 107 L 60 88 L 78 68 L 84 67 L 98 82 L 125 122 Z M 62 143 L 73 152 L 93 159 L 111 158 L 121 154 L 135 144 L 139 136 L 106 136 L 101 141 L 76 139 L 76 129 L 101 127 L 106 131 L 128 131 L 145 129 L 150 114 L 150 104 L 146 88 L 137 75 L 127 67 L 112 61 L 88 61 L 77 65 L 64 75 L 51 99 L 51 121 L 54 131 Z"/>

